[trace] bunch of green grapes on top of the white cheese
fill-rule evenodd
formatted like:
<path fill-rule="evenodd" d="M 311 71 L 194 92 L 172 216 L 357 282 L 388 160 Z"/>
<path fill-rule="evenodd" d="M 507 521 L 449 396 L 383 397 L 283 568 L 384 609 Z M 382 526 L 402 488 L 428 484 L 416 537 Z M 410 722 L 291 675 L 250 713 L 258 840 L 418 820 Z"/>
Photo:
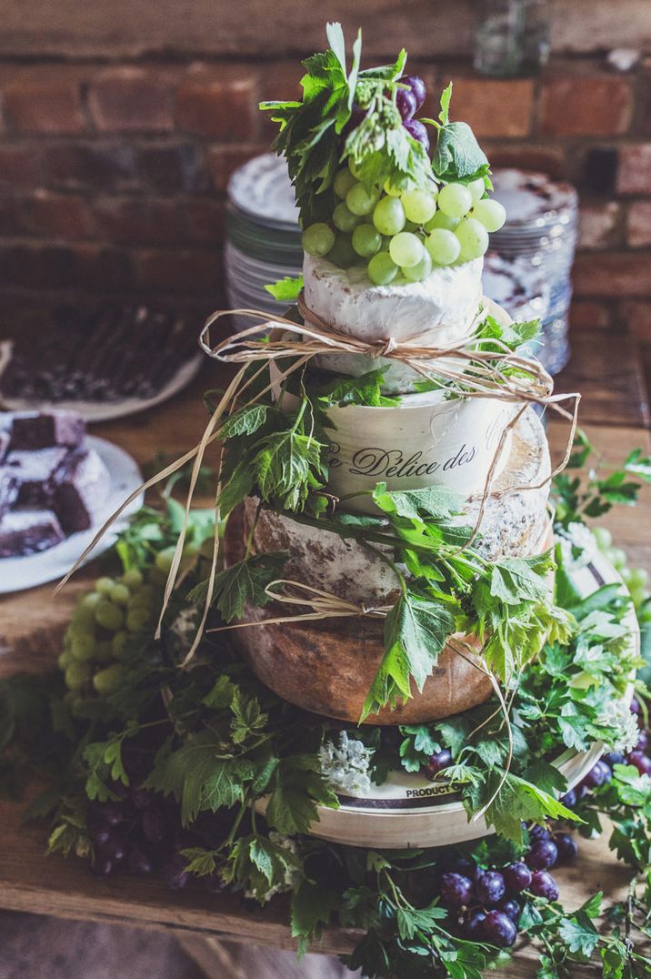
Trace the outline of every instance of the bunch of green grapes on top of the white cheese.
<path fill-rule="evenodd" d="M 338 204 L 332 222 L 318 221 L 302 233 L 307 255 L 327 257 L 342 268 L 366 263 L 372 283 L 389 285 L 400 275 L 420 282 L 435 266 L 483 256 L 488 232 L 498 231 L 506 211 L 486 196 L 484 179 L 469 184 L 434 181 L 427 188 L 395 190 L 368 186 L 354 164 L 334 180 Z"/>

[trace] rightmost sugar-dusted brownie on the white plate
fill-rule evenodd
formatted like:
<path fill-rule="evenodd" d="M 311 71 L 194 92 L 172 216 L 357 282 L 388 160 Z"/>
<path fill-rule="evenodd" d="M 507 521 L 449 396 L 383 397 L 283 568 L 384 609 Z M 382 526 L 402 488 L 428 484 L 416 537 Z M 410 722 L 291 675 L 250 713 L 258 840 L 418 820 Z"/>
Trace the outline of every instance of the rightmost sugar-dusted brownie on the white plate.
<path fill-rule="evenodd" d="M 74 449 L 59 465 L 54 479 L 52 505 L 65 533 L 87 530 L 111 491 L 104 462 L 94 448 Z"/>

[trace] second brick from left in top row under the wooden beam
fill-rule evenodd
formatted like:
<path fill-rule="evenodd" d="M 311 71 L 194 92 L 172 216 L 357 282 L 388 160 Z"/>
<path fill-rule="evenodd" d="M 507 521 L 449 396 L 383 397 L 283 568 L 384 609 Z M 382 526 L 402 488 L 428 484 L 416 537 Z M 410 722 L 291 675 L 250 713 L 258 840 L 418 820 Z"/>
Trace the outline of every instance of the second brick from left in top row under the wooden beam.
<path fill-rule="evenodd" d="M 168 70 L 119 66 L 91 79 L 88 108 L 100 132 L 174 128 L 175 78 Z"/>

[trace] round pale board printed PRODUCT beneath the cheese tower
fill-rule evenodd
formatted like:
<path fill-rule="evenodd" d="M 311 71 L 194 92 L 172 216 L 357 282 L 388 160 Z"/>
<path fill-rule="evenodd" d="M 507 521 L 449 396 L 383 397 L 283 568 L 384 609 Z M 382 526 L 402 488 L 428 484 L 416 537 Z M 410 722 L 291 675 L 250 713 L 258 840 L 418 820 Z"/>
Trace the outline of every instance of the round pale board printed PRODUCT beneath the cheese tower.
<path fill-rule="evenodd" d="M 601 555 L 578 571 L 574 578 L 584 597 L 602 584 L 614 582 L 621 583 L 622 579 Z M 630 629 L 629 641 L 639 648 L 639 629 L 632 606 L 626 622 Z M 628 703 L 632 693 L 632 684 L 629 684 L 625 698 Z M 603 744 L 596 742 L 587 751 L 568 750 L 553 762 L 568 780 L 567 791 L 579 784 L 603 752 Z M 309 831 L 312 836 L 335 843 L 355 847 L 372 845 L 377 849 L 449 846 L 493 832 L 483 817 L 469 822 L 458 800 L 437 802 L 449 795 L 449 788 L 443 781 L 432 782 L 420 774 L 393 771 L 383 785 L 373 786 L 365 798 L 347 798 L 339 809 L 317 806 L 319 821 L 313 822 Z M 256 803 L 256 809 L 263 813 L 265 805 L 266 800 L 261 799 Z"/>

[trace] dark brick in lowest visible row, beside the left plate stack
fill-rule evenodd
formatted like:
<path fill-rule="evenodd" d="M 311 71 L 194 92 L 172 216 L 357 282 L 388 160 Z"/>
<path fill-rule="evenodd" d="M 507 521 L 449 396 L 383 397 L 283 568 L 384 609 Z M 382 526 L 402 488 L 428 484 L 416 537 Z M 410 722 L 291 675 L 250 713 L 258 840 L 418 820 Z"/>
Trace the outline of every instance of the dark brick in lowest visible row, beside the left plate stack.
<path fill-rule="evenodd" d="M 215 251 L 157 249 L 135 256 L 136 281 L 145 289 L 174 293 L 216 293 L 221 256 Z"/>

